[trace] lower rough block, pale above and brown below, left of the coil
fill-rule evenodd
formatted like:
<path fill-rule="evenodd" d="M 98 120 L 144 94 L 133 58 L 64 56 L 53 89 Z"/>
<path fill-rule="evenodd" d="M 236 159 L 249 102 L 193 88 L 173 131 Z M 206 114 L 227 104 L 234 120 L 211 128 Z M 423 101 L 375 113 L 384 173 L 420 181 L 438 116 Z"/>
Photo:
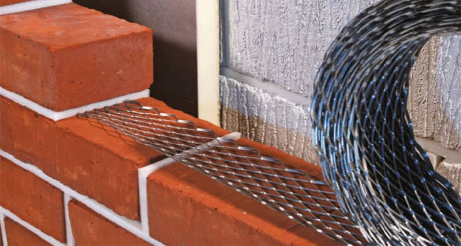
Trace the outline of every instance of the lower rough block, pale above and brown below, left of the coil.
<path fill-rule="evenodd" d="M 221 76 L 221 125 L 244 137 L 319 163 L 312 149 L 308 105 Z"/>

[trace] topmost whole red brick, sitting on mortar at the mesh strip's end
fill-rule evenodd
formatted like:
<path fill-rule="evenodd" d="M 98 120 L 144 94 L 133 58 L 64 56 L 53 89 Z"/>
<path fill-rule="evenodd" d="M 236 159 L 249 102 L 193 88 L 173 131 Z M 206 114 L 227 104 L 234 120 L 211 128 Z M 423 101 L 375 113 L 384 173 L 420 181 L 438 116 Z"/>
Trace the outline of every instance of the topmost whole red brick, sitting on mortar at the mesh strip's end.
<path fill-rule="evenodd" d="M 152 31 L 76 4 L 0 16 L 0 85 L 61 111 L 153 81 Z"/>

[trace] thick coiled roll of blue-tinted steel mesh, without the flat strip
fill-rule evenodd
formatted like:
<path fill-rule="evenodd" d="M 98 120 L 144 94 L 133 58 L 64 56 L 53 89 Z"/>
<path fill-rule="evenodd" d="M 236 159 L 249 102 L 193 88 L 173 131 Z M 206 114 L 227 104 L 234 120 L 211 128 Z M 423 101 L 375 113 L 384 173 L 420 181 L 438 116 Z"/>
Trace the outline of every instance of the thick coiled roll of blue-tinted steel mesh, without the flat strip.
<path fill-rule="evenodd" d="M 460 31 L 459 0 L 386 0 L 325 55 L 313 141 L 341 208 L 370 242 L 461 245 L 461 199 L 414 140 L 406 109 L 415 56 L 432 35 Z"/>

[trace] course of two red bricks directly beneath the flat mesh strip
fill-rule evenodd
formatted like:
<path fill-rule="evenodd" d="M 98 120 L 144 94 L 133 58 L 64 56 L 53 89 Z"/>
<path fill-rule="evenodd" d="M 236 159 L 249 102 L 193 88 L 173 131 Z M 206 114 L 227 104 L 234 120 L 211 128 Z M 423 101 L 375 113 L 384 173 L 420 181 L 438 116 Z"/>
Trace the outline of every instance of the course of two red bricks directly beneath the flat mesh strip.
<path fill-rule="evenodd" d="M 153 98 L 138 101 L 191 120 L 198 127 L 213 129 L 219 136 L 229 133 Z M 72 117 L 55 122 L 5 97 L 0 103 L 0 117 L 5 122 L 0 130 L 6 133 L 0 136 L 2 149 L 116 213 L 139 219 L 137 169 L 164 158 L 160 153 L 134 145 L 129 138 L 122 140 L 111 128 L 103 130 L 86 119 Z M 35 144 L 30 145 L 31 141 Z M 238 142 L 321 179 L 320 168 L 299 158 L 247 139 Z M 166 244 L 334 244 L 322 234 L 180 163 L 149 177 L 148 204 L 150 234 Z"/>

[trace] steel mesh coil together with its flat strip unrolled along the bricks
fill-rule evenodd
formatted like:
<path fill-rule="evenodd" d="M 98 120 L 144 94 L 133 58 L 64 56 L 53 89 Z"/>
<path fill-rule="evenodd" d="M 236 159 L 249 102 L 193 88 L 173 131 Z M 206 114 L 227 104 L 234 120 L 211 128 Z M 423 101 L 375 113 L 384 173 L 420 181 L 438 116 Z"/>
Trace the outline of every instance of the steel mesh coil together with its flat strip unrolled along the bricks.
<path fill-rule="evenodd" d="M 460 1 L 382 1 L 325 55 L 311 113 L 324 180 L 194 122 L 125 101 L 79 114 L 344 244 L 461 244 L 461 199 L 415 142 L 408 73 Z"/>

